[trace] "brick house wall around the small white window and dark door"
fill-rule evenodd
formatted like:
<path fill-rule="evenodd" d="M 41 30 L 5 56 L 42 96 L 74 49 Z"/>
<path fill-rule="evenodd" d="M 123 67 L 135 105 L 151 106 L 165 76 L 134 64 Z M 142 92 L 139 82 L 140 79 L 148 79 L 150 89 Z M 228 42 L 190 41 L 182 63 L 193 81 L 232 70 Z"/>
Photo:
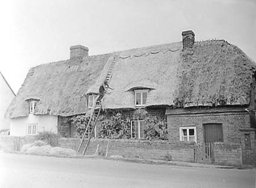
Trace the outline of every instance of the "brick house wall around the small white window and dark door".
<path fill-rule="evenodd" d="M 180 139 L 179 127 L 196 127 L 197 144 L 202 144 L 204 123 L 222 123 L 224 142 L 240 142 L 240 129 L 250 128 L 250 116 L 247 112 L 167 115 L 168 139 L 169 141 Z"/>

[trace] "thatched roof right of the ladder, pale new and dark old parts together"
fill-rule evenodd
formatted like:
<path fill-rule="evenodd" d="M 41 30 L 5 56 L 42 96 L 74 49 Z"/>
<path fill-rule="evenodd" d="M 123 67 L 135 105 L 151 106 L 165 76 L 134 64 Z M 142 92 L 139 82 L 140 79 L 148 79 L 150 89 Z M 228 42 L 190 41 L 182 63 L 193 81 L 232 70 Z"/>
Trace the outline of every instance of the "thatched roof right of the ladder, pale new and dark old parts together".
<path fill-rule="evenodd" d="M 149 106 L 249 105 L 256 65 L 224 40 L 156 45 L 116 52 L 104 108 L 135 108 L 133 89 L 148 88 Z M 110 62 L 109 62 L 110 64 Z M 88 93 L 97 92 L 109 66 Z"/>

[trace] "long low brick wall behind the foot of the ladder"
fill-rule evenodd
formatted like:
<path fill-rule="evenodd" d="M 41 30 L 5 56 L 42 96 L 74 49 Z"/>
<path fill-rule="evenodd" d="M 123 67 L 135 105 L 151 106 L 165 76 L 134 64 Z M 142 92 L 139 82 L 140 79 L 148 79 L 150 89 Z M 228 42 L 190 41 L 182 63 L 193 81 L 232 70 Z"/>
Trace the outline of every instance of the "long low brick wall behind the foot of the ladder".
<path fill-rule="evenodd" d="M 82 149 L 85 148 L 86 141 L 87 140 L 84 141 Z M 90 144 L 88 150 L 86 151 L 86 154 L 94 154 L 96 152 L 97 145 L 99 145 L 100 154 L 105 156 L 108 142 L 108 156 L 194 162 L 193 143 L 170 143 L 168 141 L 159 140 L 148 141 L 92 139 L 90 140 Z M 77 150 L 77 148 L 79 147 L 79 143 L 80 139 L 61 138 L 59 140 L 59 147 Z"/>

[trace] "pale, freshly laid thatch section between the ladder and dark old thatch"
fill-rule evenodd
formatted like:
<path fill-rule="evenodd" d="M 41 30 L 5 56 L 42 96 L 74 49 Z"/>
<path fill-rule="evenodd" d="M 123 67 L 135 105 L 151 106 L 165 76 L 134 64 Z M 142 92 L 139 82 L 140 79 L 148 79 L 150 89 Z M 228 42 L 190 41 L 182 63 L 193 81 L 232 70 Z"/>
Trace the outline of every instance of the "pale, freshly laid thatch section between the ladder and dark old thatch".
<path fill-rule="evenodd" d="M 177 87 L 176 70 L 181 61 L 182 42 L 155 45 L 152 47 L 130 49 L 115 52 L 117 60 L 113 70 L 110 86 L 111 94 L 106 94 L 105 108 L 135 108 L 134 88 L 151 89 L 146 106 L 173 105 L 172 95 Z M 107 72 L 108 66 L 102 70 Z M 97 93 L 98 86 L 105 74 L 88 90 Z"/>

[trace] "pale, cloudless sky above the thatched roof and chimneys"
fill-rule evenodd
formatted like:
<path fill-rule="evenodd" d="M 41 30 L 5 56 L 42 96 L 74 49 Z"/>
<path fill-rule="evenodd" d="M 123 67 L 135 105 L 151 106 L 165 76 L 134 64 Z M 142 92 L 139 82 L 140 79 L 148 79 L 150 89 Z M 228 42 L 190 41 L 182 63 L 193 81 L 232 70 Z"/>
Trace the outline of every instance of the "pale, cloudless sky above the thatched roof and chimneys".
<path fill-rule="evenodd" d="M 181 41 L 224 39 L 256 62 L 256 0 L 9 0 L 0 2 L 0 71 L 17 93 L 28 70 L 89 55 Z"/>

